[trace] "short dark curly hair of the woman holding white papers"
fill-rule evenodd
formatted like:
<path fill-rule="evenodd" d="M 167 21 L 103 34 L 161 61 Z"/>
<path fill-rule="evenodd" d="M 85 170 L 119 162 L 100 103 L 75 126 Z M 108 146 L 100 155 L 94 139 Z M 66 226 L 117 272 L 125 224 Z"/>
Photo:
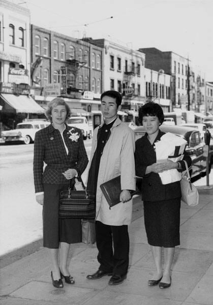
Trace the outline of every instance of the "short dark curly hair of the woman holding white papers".
<path fill-rule="evenodd" d="M 160 122 L 160 125 L 164 121 L 164 113 L 161 106 L 154 102 L 148 102 L 141 106 L 138 110 L 138 121 L 141 125 L 143 125 L 143 116 L 157 116 Z"/>

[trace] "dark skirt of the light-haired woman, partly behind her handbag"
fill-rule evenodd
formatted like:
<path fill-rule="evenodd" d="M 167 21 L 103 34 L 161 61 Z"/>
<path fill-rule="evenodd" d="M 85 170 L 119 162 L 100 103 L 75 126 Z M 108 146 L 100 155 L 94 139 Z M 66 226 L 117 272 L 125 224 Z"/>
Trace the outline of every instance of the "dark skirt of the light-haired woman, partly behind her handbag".
<path fill-rule="evenodd" d="M 81 242 L 80 219 L 58 219 L 59 195 L 67 185 L 44 184 L 43 246 L 57 249 L 59 242 Z"/>

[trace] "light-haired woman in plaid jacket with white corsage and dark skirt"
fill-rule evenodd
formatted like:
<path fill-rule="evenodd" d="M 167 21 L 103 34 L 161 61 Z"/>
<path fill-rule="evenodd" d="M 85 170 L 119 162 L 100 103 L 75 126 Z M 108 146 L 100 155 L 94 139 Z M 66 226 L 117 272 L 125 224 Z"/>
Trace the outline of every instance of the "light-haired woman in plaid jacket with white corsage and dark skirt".
<path fill-rule="evenodd" d="M 53 99 L 46 110 L 51 124 L 36 133 L 34 143 L 34 184 L 36 200 L 43 205 L 43 246 L 48 248 L 52 284 L 57 288 L 63 287 L 62 278 L 68 284 L 75 283 L 67 261 L 70 243 L 81 241 L 80 219 L 58 219 L 59 194 L 88 163 L 81 130 L 65 124 L 70 115 L 64 99 Z"/>

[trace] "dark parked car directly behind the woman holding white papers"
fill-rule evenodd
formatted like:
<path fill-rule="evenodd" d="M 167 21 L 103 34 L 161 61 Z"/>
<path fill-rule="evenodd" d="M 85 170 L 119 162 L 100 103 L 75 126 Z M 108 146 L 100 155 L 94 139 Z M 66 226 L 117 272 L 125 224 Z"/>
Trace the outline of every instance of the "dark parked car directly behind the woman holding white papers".
<path fill-rule="evenodd" d="M 161 125 L 160 130 L 163 132 L 170 132 L 178 137 L 184 138 L 187 141 L 186 153 L 192 158 L 192 166 L 190 168 L 190 175 L 193 178 L 204 176 L 206 174 L 206 158 L 203 156 L 204 142 L 201 139 L 200 132 L 191 127 L 181 126 L 166 126 Z M 135 140 L 145 134 L 143 126 L 134 130 Z M 213 154 L 211 151 L 209 158 L 209 172 L 213 164 Z"/>

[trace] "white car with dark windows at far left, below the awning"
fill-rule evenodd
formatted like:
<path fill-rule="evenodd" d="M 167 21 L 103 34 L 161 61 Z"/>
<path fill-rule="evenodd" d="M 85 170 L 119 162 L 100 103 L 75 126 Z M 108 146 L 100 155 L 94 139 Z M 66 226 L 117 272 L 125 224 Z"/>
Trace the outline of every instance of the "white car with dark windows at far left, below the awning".
<path fill-rule="evenodd" d="M 5 143 L 23 142 L 33 143 L 38 130 L 47 127 L 50 123 L 46 119 L 24 119 L 15 129 L 2 132 Z"/>

